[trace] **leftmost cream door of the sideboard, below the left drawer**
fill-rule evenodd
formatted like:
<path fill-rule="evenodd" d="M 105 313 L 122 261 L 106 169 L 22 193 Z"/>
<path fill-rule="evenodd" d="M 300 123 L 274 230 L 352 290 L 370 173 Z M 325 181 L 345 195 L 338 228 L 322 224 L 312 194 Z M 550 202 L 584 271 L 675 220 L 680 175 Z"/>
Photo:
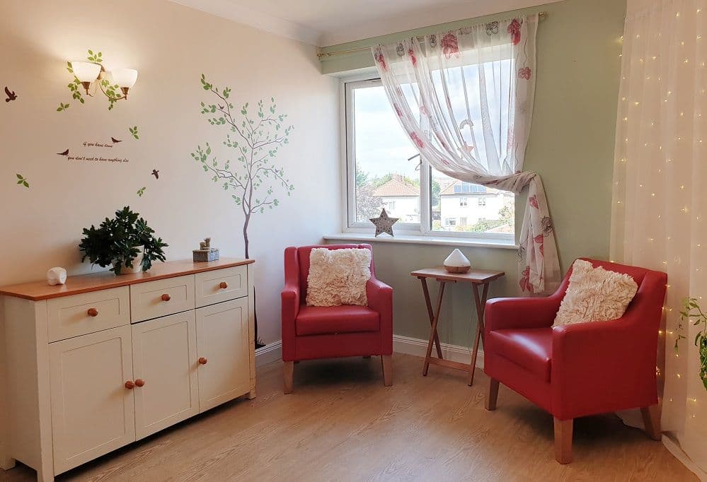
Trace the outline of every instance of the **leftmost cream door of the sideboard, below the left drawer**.
<path fill-rule="evenodd" d="M 54 473 L 135 440 L 130 327 L 49 345 Z"/>

